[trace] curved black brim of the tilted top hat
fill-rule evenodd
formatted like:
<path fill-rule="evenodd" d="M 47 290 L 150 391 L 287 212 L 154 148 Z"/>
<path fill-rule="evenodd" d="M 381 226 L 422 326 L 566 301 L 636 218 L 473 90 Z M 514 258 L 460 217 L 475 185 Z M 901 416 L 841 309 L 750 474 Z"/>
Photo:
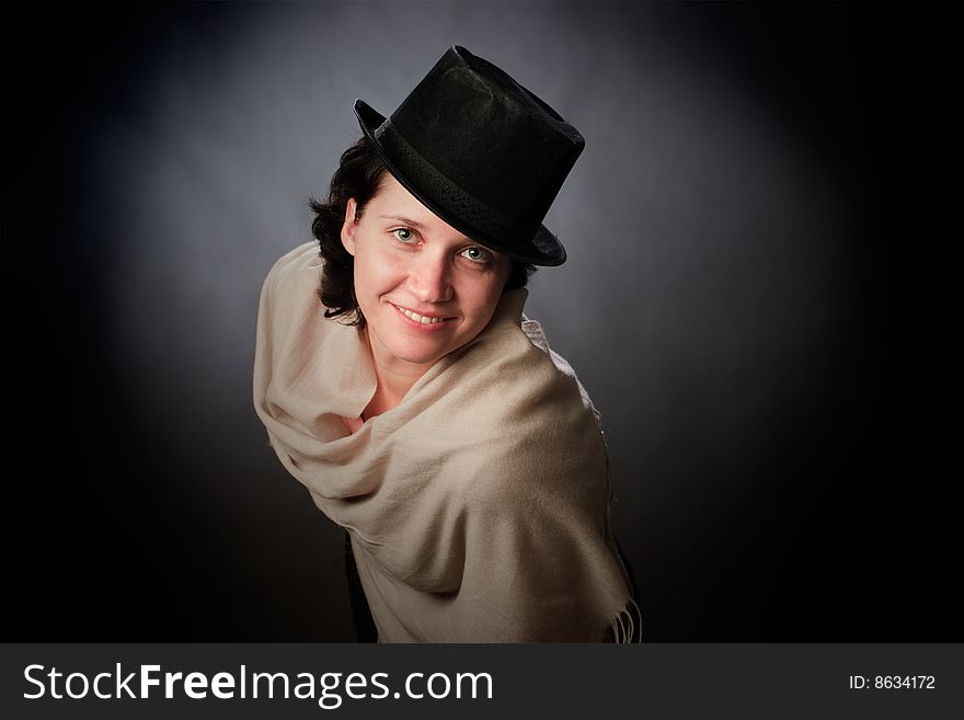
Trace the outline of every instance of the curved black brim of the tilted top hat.
<path fill-rule="evenodd" d="M 498 218 L 494 217 L 491 212 L 486 213 L 484 206 L 468 196 L 464 191 L 408 147 L 408 144 L 398 135 L 385 115 L 364 100 L 355 101 L 355 115 L 358 117 L 358 124 L 362 126 L 365 137 L 371 141 L 378 157 L 385 162 L 392 176 L 420 203 L 459 232 L 519 262 L 548 267 L 565 262 L 565 248 L 544 225 L 540 225 L 533 236 L 524 240 L 517 236 L 512 237 L 512 241 L 507 237 L 506 239 L 498 238 L 500 233 L 491 229 L 498 224 Z M 401 149 L 403 146 L 405 151 Z M 474 205 L 473 215 L 487 221 L 473 224 L 464 217 L 460 217 L 446 207 L 445 198 L 447 197 L 455 198 L 460 207 Z M 483 225 L 489 229 L 484 229 Z M 531 233 L 531 230 L 529 232 Z M 505 236 L 510 233 L 515 235 L 512 230 L 503 232 Z"/>

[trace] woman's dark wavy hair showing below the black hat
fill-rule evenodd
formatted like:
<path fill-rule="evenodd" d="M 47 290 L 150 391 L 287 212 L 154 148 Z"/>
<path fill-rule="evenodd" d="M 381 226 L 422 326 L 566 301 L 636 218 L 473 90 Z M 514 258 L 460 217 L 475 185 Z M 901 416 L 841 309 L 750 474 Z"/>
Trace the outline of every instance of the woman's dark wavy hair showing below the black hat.
<path fill-rule="evenodd" d="M 324 259 L 318 297 L 325 308 L 325 318 L 345 316 L 346 324 L 365 327 L 365 316 L 355 298 L 355 259 L 342 244 L 342 225 L 348 198 L 355 198 L 357 219 L 368 201 L 381 188 L 387 172 L 368 138 L 362 137 L 342 153 L 326 202 L 313 198 L 308 202 L 314 213 L 311 233 L 318 240 L 319 254 Z M 535 265 L 513 260 L 503 293 L 525 287 L 535 272 Z"/>

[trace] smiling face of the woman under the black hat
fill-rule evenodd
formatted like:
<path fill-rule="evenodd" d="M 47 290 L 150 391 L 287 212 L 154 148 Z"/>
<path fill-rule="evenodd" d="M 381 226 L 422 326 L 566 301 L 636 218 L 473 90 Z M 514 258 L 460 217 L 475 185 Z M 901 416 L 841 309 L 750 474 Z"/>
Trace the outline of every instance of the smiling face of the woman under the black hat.
<path fill-rule="evenodd" d="M 510 261 L 438 218 L 390 173 L 360 218 L 356 209 L 349 199 L 342 243 L 355 258 L 355 297 L 376 363 L 424 373 L 485 328 Z"/>

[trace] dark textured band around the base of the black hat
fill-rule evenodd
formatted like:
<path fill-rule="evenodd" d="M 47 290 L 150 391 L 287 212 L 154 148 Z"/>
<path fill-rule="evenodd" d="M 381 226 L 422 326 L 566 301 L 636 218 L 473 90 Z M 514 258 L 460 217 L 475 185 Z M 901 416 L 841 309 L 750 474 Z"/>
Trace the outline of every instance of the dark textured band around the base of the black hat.
<path fill-rule="evenodd" d="M 409 145 L 390 119 L 376 128 L 375 137 L 381 144 L 382 159 L 395 179 L 428 209 L 477 242 L 512 255 L 525 250 L 514 247 L 512 240 L 528 242 L 538 232 L 538 222 L 528 225 L 506 217 L 436 170 Z M 412 178 L 418 178 L 421 182 L 416 185 Z"/>

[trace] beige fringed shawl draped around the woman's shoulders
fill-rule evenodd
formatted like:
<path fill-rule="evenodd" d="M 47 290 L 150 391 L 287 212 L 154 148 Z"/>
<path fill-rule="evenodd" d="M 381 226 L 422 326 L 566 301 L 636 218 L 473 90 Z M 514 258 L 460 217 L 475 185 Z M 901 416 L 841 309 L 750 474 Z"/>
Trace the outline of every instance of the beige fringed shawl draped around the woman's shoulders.
<path fill-rule="evenodd" d="M 632 637 L 598 418 L 523 317 L 527 292 L 349 434 L 342 418 L 362 414 L 375 370 L 365 335 L 324 318 L 321 264 L 307 243 L 265 279 L 254 405 L 285 468 L 349 532 L 379 641 Z"/>

